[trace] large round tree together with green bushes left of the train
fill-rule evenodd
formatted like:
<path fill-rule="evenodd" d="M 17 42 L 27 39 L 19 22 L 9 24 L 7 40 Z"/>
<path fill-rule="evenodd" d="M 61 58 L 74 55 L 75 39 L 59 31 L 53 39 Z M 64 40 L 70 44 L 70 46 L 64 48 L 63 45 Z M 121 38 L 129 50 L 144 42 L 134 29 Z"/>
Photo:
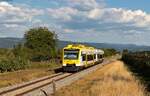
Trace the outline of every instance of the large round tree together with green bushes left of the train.
<path fill-rule="evenodd" d="M 45 64 L 39 65 L 42 64 L 40 62 L 51 63 L 56 59 L 57 35 L 48 28 L 32 28 L 26 32 L 24 39 L 24 43 L 18 44 L 12 49 L 0 49 L 0 72 L 44 66 Z M 39 63 L 31 65 L 34 62 Z"/>

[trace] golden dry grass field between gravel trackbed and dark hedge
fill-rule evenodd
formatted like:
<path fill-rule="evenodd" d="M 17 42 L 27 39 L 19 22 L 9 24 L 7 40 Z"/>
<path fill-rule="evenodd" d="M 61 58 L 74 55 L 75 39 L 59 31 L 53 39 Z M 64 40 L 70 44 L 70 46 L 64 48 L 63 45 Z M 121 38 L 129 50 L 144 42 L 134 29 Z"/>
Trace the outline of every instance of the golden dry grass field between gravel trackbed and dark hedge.
<path fill-rule="evenodd" d="M 56 96 L 145 96 L 145 88 L 121 61 L 114 61 L 61 88 Z"/>

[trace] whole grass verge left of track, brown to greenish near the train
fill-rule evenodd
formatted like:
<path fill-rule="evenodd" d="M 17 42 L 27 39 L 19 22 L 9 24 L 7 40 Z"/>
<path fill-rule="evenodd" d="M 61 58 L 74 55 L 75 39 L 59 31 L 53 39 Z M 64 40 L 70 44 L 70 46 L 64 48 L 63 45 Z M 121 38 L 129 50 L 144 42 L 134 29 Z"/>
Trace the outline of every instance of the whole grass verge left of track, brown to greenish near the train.
<path fill-rule="evenodd" d="M 54 69 L 60 66 L 60 64 L 48 61 L 32 62 L 29 69 L 0 73 L 0 88 L 51 75 L 54 73 Z"/>

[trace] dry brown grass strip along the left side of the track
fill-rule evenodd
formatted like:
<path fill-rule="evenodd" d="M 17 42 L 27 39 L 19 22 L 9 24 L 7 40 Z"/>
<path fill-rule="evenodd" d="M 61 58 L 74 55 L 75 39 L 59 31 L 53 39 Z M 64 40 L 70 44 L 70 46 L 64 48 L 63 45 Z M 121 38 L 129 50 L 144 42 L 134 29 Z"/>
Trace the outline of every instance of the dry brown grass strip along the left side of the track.
<path fill-rule="evenodd" d="M 27 82 L 50 74 L 52 74 L 52 72 L 48 72 L 44 69 L 28 69 L 16 72 L 0 73 L 0 88 Z"/>

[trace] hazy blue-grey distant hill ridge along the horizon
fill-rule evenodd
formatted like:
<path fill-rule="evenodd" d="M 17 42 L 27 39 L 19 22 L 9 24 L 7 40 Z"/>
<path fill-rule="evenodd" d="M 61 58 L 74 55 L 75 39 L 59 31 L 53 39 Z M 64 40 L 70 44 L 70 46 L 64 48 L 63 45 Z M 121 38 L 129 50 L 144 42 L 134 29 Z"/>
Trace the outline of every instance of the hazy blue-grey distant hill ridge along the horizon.
<path fill-rule="evenodd" d="M 0 38 L 0 48 L 13 48 L 14 45 L 23 42 L 22 38 Z M 128 49 L 131 51 L 143 51 L 150 50 L 150 46 L 137 46 L 134 44 L 109 44 L 109 43 L 87 43 L 87 42 L 71 42 L 71 41 L 59 41 L 58 48 L 63 48 L 68 44 L 84 44 L 93 46 L 96 48 L 114 48 L 116 50 Z"/>

